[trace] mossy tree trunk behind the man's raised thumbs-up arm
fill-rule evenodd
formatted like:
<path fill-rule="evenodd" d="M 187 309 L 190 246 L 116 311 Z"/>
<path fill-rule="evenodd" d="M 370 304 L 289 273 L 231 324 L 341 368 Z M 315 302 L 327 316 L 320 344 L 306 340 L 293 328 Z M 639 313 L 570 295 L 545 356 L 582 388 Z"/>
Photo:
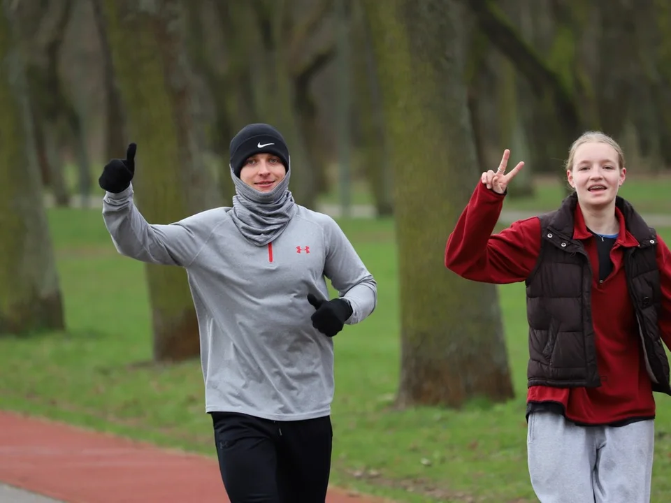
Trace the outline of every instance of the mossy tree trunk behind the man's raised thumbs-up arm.
<path fill-rule="evenodd" d="M 129 137 L 138 144 L 138 208 L 147 221 L 165 224 L 220 205 L 195 129 L 180 0 L 101 1 Z M 120 152 L 124 147 L 119 145 Z M 147 265 L 147 282 L 154 360 L 198 356 L 199 330 L 185 271 Z"/>

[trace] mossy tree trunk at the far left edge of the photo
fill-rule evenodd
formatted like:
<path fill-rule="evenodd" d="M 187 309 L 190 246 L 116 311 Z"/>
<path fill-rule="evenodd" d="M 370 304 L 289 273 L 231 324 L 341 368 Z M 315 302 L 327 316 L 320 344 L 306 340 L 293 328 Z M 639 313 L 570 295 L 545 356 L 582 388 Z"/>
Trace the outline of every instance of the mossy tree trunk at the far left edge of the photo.
<path fill-rule="evenodd" d="M 0 335 L 64 328 L 12 3 L 0 6 Z"/>

